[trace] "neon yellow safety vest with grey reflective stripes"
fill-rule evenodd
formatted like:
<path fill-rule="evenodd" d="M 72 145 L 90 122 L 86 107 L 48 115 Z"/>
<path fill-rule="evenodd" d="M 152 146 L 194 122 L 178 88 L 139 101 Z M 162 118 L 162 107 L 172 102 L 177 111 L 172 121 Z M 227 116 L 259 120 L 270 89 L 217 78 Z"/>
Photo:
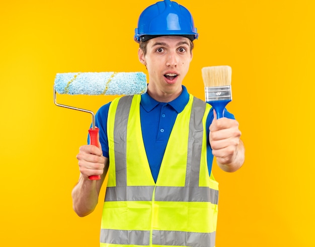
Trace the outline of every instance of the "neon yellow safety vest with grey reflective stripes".
<path fill-rule="evenodd" d="M 110 167 L 100 246 L 214 247 L 218 183 L 207 167 L 210 106 L 189 96 L 154 183 L 143 144 L 140 100 L 139 95 L 124 96 L 109 108 Z"/>

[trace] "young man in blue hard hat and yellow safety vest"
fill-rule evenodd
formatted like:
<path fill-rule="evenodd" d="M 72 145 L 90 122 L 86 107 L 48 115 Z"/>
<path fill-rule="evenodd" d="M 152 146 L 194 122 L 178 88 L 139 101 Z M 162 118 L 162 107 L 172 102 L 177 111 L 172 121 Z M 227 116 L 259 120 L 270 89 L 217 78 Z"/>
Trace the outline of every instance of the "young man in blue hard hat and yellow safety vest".
<path fill-rule="evenodd" d="M 103 106 L 96 115 L 99 147 L 84 145 L 77 155 L 81 174 L 72 199 L 79 216 L 95 209 L 108 172 L 101 246 L 215 245 L 213 155 L 234 172 L 244 146 L 231 114 L 216 119 L 182 85 L 197 37 L 190 13 L 175 2 L 149 6 L 139 18 L 135 40 L 147 93 Z"/>

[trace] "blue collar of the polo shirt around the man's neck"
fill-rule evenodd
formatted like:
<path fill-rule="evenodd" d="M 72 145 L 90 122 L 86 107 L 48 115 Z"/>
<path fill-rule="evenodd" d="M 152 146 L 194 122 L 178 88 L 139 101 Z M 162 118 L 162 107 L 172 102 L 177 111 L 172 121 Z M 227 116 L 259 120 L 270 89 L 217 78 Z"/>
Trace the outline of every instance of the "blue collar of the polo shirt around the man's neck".
<path fill-rule="evenodd" d="M 141 95 L 141 106 L 144 108 L 145 111 L 150 112 L 153 110 L 154 107 L 156 107 L 158 104 L 169 104 L 174 108 L 177 113 L 180 113 L 184 110 L 185 106 L 187 105 L 189 101 L 189 94 L 187 92 L 187 89 L 185 86 L 182 85 L 183 91 L 180 94 L 179 97 L 177 97 L 175 100 L 169 102 L 169 103 L 161 103 L 153 98 L 151 98 L 148 93 L 145 93 Z"/>

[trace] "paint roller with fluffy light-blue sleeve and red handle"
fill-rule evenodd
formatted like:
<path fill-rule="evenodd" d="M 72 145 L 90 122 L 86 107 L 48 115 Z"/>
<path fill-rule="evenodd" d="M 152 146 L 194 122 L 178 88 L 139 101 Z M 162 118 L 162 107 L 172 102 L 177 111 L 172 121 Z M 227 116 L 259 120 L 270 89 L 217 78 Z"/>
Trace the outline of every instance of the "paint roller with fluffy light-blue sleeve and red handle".
<path fill-rule="evenodd" d="M 141 95 L 146 93 L 146 75 L 142 72 L 76 72 L 57 73 L 54 81 L 54 103 L 56 106 L 87 112 L 92 115 L 92 127 L 89 129 L 90 144 L 99 146 L 93 111 L 57 103 L 56 93 L 67 95 Z M 90 176 L 99 180 L 100 176 Z"/>

